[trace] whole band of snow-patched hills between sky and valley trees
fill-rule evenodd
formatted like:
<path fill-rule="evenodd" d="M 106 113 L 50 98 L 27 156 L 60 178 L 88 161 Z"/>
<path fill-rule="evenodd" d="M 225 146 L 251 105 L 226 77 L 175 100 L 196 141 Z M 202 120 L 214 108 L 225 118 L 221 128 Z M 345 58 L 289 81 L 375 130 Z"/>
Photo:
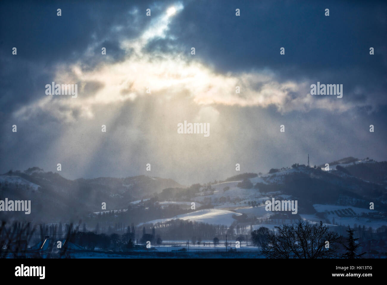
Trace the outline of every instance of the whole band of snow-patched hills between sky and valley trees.
<path fill-rule="evenodd" d="M 188 188 L 145 175 L 68 180 L 34 167 L 0 175 L 0 193 L 9 199 L 31 200 L 33 209 L 39 209 L 28 217 L 24 213 L 12 217 L 45 222 L 71 218 L 86 221 L 90 228 L 97 222 L 106 227 L 111 223 L 151 227 L 177 219 L 272 228 L 299 218 L 377 227 L 387 225 L 386 164 L 350 157 L 333 161 L 327 171 L 295 164 Z M 297 213 L 266 211 L 265 201 L 273 198 L 296 200 Z M 101 209 L 102 202 L 106 210 Z M 191 208 L 193 202 L 195 208 Z"/>

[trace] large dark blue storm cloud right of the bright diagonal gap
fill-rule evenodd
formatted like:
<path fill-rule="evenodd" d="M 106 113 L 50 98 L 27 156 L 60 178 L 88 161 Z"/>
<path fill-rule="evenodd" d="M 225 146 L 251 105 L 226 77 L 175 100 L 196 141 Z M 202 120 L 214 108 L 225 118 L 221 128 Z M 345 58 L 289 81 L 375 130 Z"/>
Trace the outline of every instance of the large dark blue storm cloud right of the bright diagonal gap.
<path fill-rule="evenodd" d="M 387 5 L 378 1 L 192 1 L 174 18 L 170 34 L 182 52 L 189 54 L 195 47 L 193 60 L 219 72 L 269 68 L 280 82 L 340 83 L 346 94 L 363 86 L 366 96 L 385 104 L 386 15 Z M 159 39 L 154 50 L 163 49 L 163 42 L 166 49 L 170 39 Z M 281 47 L 285 55 L 279 54 Z M 373 56 L 370 47 L 375 48 Z"/>

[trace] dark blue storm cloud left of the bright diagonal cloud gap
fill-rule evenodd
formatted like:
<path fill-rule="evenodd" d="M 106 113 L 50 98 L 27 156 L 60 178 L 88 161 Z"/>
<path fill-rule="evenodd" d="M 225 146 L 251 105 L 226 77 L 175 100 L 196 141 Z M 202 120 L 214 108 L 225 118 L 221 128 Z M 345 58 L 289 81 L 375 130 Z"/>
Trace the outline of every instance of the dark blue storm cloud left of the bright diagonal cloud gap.
<path fill-rule="evenodd" d="M 122 60 L 126 54 L 119 40 L 142 33 L 149 19 L 138 13 L 145 14 L 148 7 L 159 10 L 152 1 L 2 1 L 1 112 L 40 98 L 41 86 L 51 82 L 57 64 L 82 61 L 82 68 L 91 69 L 103 61 Z M 17 56 L 12 55 L 13 47 Z M 102 47 L 107 57 L 98 57 Z"/>

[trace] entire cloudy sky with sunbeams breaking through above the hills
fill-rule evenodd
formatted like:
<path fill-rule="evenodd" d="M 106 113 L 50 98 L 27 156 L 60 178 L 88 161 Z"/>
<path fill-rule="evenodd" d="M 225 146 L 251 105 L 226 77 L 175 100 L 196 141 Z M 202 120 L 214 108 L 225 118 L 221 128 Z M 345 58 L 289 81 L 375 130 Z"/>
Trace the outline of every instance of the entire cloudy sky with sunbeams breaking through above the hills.
<path fill-rule="evenodd" d="M 0 173 L 190 185 L 308 154 L 387 160 L 386 15 L 382 1 L 2 1 Z M 179 134 L 184 121 L 209 136 Z"/>

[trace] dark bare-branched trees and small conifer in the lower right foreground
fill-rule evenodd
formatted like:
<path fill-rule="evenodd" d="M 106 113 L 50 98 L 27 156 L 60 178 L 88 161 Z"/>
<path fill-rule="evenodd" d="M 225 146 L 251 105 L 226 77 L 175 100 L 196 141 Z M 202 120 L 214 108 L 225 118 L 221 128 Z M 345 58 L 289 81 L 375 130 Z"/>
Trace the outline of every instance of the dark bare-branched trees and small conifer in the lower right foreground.
<path fill-rule="evenodd" d="M 299 220 L 295 225 L 261 227 L 251 233 L 251 242 L 267 258 L 375 258 L 386 257 L 387 227 L 334 227 Z"/>

